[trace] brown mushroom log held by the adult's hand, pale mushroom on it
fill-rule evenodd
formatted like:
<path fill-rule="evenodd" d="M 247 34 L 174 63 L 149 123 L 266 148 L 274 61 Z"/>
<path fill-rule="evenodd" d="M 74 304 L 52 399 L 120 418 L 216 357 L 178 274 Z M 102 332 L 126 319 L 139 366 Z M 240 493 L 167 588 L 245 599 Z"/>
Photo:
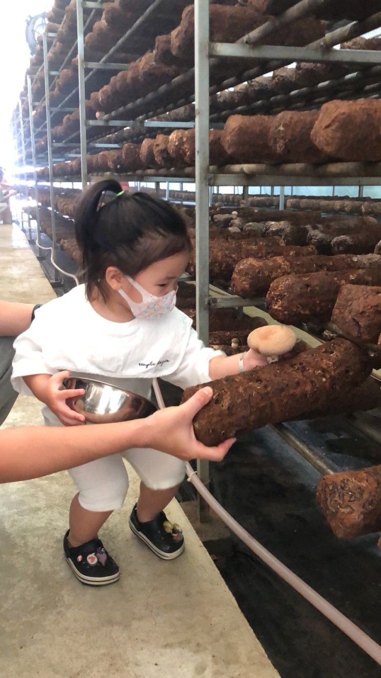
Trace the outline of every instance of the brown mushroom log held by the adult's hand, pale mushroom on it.
<path fill-rule="evenodd" d="M 371 373 L 361 348 L 344 339 L 296 357 L 211 382 L 212 400 L 195 416 L 195 435 L 218 445 L 237 433 L 261 428 L 323 407 L 327 397 L 359 386 Z M 182 401 L 199 388 L 186 388 Z"/>

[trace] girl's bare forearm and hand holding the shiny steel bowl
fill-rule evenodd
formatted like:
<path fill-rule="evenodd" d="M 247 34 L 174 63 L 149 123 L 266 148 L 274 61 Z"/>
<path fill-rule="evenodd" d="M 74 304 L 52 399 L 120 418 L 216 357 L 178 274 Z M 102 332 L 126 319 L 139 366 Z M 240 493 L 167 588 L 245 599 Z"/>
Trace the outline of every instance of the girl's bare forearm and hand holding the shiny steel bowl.
<path fill-rule="evenodd" d="M 50 374 L 28 374 L 24 376 L 26 386 L 31 389 L 33 395 L 45 403 L 49 410 L 58 417 L 64 426 L 78 426 L 85 422 L 83 414 L 75 412 L 66 404 L 68 398 L 78 397 L 85 393 L 83 388 L 62 389 L 64 379 L 70 377 L 70 372 L 58 372 Z"/>

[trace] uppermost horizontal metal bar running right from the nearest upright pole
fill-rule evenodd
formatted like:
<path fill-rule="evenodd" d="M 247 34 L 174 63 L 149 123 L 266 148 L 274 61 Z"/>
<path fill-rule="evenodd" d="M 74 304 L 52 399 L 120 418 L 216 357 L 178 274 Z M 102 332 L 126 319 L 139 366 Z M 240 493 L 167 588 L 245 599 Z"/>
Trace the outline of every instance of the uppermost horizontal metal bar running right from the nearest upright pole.
<path fill-rule="evenodd" d="M 209 56 L 239 59 L 279 59 L 285 61 L 309 61 L 329 63 L 380 64 L 381 51 L 370 49 L 327 49 L 315 47 L 279 47 L 260 45 L 253 47 L 243 43 L 210 43 Z"/>

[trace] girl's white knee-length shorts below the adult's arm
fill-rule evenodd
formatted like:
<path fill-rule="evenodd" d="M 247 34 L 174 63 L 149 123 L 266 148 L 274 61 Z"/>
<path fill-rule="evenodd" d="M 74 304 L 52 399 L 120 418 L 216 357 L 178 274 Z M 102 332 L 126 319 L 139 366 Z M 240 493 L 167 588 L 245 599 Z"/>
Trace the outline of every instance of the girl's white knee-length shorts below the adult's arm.
<path fill-rule="evenodd" d="M 45 418 L 45 425 L 52 426 Z M 69 473 L 77 485 L 79 503 L 87 511 L 121 509 L 128 490 L 127 469 L 123 458 L 133 466 L 146 487 L 167 490 L 184 479 L 185 462 L 170 454 L 135 448 L 122 454 L 96 459 L 71 468 Z"/>

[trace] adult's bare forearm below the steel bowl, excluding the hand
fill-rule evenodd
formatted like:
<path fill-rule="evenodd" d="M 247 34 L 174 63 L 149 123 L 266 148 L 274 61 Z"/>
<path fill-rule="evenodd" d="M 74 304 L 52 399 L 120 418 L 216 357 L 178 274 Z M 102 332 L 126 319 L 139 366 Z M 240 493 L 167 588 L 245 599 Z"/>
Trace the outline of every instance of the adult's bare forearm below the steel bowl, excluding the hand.
<path fill-rule="evenodd" d="M 49 475 L 150 442 L 144 420 L 71 428 L 6 428 L 0 431 L 0 482 Z"/>

